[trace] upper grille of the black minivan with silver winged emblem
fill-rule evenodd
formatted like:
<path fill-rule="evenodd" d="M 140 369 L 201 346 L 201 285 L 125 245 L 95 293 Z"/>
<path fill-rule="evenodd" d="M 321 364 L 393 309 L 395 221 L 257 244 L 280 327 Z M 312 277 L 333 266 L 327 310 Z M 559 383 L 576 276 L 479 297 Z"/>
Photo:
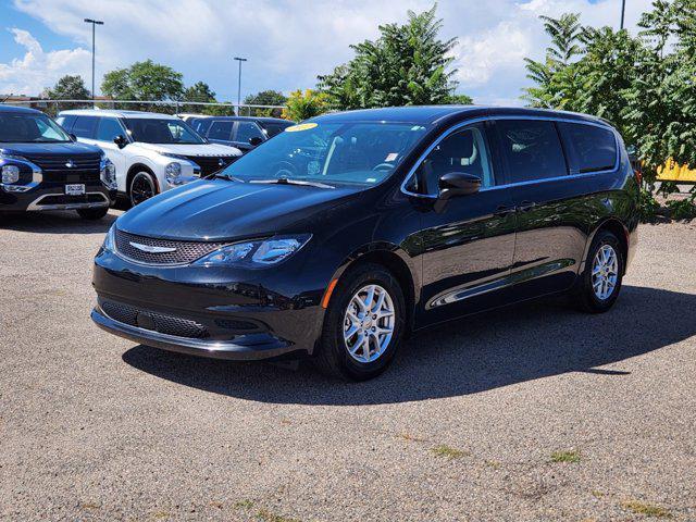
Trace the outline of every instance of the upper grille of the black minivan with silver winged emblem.
<path fill-rule="evenodd" d="M 174 250 L 169 252 L 146 252 L 134 247 L 133 244 Z M 156 239 L 153 237 L 136 236 L 116 228 L 116 250 L 128 259 L 146 264 L 188 264 L 224 245 L 227 244 Z"/>

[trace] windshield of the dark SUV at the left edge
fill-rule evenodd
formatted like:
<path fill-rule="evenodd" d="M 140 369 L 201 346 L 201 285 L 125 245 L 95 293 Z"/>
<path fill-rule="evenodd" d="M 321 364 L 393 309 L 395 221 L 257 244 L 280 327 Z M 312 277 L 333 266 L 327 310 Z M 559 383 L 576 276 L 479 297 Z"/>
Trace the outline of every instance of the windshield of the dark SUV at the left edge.
<path fill-rule="evenodd" d="M 64 144 L 70 136 L 46 114 L 0 113 L 0 142 Z"/>

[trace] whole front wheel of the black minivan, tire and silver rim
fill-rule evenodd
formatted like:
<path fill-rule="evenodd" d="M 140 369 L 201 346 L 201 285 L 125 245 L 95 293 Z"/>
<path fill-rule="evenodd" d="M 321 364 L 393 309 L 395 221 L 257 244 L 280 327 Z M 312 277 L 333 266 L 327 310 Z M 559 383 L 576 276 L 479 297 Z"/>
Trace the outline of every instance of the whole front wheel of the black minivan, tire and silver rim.
<path fill-rule="evenodd" d="M 359 315 L 364 315 L 364 311 L 353 313 L 352 316 L 362 322 L 353 335 L 345 338 L 346 330 L 350 331 L 358 324 L 350 319 L 348 309 L 350 307 L 351 312 L 359 310 L 353 299 L 358 297 L 366 301 L 370 288 L 374 288 L 371 308 L 373 312 L 377 312 L 377 319 L 374 319 L 375 313 L 363 319 L 359 319 Z M 377 311 L 382 294 L 386 295 L 381 310 Z M 389 315 L 389 308 L 393 315 Z M 347 381 L 376 377 L 387 369 L 400 348 L 406 326 L 405 318 L 403 291 L 385 268 L 378 264 L 363 264 L 349 270 L 332 294 L 318 353 L 314 357 L 315 365 L 323 373 Z M 390 336 L 387 333 L 389 330 Z M 359 343 L 363 332 L 366 332 L 366 335 L 363 335 L 363 338 L 368 337 L 366 345 Z M 353 350 L 353 355 L 349 349 Z"/>

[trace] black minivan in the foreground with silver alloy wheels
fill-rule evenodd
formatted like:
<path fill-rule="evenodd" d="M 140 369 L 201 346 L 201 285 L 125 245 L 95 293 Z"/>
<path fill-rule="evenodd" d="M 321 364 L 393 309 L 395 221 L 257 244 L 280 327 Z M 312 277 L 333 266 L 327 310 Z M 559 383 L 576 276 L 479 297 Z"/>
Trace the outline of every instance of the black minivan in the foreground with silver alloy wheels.
<path fill-rule="evenodd" d="M 204 357 L 385 370 L 414 330 L 555 293 L 604 312 L 636 246 L 619 134 L 581 114 L 410 107 L 285 129 L 122 215 L 94 321 Z"/>

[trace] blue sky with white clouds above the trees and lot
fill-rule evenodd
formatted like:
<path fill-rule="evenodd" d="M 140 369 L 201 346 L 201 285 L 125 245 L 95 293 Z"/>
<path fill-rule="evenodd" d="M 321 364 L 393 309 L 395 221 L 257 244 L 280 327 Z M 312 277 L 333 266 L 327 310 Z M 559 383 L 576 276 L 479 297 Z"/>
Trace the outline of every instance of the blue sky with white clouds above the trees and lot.
<path fill-rule="evenodd" d="M 648 0 L 627 0 L 634 28 Z M 243 96 L 262 89 L 311 88 L 318 74 L 350 59 L 349 45 L 377 26 L 406 20 L 432 1 L 400 0 L 0 0 L 0 94 L 37 95 L 63 74 L 90 84 L 97 28 L 97 85 L 104 72 L 151 58 L 207 82 L 221 100 L 236 100 L 234 55 L 249 59 Z M 524 57 L 547 41 L 538 15 L 581 12 L 592 25 L 618 25 L 620 0 L 440 0 L 443 37 L 458 37 L 459 91 L 480 103 L 519 104 Z"/>

